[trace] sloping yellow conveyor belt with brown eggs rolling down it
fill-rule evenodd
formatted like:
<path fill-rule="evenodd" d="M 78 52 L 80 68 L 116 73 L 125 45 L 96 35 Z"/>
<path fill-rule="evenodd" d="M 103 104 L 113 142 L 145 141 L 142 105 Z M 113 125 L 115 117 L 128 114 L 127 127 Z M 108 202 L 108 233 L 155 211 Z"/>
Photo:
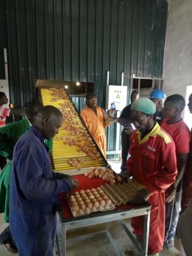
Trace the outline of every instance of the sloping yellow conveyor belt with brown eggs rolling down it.
<path fill-rule="evenodd" d="M 64 117 L 63 125 L 53 140 L 52 155 L 55 170 L 83 170 L 95 166 L 106 166 L 104 157 L 81 122 L 65 90 L 41 88 L 40 92 L 44 106 L 52 105 L 60 109 Z M 84 172 L 79 171 L 79 173 Z"/>

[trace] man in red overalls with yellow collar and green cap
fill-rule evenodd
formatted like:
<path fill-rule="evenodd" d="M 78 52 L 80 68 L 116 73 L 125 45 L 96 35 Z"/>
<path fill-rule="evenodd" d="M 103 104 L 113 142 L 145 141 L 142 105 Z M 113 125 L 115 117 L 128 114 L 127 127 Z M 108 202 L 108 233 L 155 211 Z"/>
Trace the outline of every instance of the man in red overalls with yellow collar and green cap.
<path fill-rule="evenodd" d="M 145 186 L 131 200 L 131 204 L 148 201 L 152 205 L 148 238 L 148 255 L 159 255 L 164 242 L 165 199 L 164 191 L 177 175 L 175 144 L 172 138 L 154 121 L 156 105 L 149 99 L 138 99 L 132 103 L 131 115 L 136 122 L 132 132 L 124 179 L 132 176 Z M 127 176 L 127 177 L 126 177 Z M 143 238 L 143 216 L 132 218 L 134 234 Z"/>

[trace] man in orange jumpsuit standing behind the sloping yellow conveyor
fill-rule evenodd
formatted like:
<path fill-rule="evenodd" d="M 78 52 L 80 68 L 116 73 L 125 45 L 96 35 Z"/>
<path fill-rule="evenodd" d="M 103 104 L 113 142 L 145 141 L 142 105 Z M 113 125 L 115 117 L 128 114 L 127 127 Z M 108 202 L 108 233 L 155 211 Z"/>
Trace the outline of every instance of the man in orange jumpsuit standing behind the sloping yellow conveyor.
<path fill-rule="evenodd" d="M 108 117 L 112 117 L 115 110 L 109 110 Z M 94 140 L 97 142 L 102 154 L 106 157 L 107 140 L 105 128 L 109 123 L 104 122 L 106 119 L 104 109 L 97 106 L 97 96 L 95 93 L 86 94 L 86 107 L 81 111 L 81 117 L 90 130 Z"/>

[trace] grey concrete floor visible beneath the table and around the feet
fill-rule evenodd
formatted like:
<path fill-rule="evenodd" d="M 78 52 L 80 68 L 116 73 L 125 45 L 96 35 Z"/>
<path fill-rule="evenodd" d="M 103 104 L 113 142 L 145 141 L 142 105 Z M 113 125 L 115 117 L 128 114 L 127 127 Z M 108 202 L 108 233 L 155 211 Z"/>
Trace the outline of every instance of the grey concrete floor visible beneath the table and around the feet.
<path fill-rule="evenodd" d="M 2 215 L 1 215 L 2 221 Z M 127 225 L 130 227 L 129 220 L 126 220 Z M 127 256 L 138 256 L 136 249 L 125 236 L 124 230 L 118 225 L 116 221 L 110 223 L 110 232 L 115 239 L 116 244 L 122 252 L 129 250 Z M 1 222 L 1 230 L 4 228 L 4 224 Z M 95 225 L 86 228 L 79 228 L 76 230 L 70 230 L 67 232 L 67 239 L 83 236 L 93 232 L 99 232 L 105 230 L 106 225 Z M 0 255 L 1 256 L 11 256 L 12 253 L 6 252 L 3 246 L 0 246 Z M 17 255 L 17 254 L 15 254 Z M 97 236 L 92 239 L 86 239 L 83 241 L 76 241 L 73 243 L 67 243 L 67 256 L 116 256 L 115 250 L 111 243 L 106 243 L 106 237 L 104 235 Z M 180 240 L 175 240 L 175 248 L 172 250 L 163 250 L 160 253 L 161 256 L 185 256 Z M 35 255 L 34 255 L 35 256 Z M 43 255 L 42 255 L 43 256 Z"/>

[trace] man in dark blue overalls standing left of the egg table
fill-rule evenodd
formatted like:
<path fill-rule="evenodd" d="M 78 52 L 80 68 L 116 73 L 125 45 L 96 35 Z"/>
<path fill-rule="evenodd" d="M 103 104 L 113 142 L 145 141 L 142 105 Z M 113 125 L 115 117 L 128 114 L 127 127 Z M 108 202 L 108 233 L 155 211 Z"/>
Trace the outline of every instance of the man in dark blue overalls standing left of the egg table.
<path fill-rule="evenodd" d="M 68 175 L 52 172 L 44 143 L 58 133 L 62 124 L 60 111 L 45 106 L 13 151 L 10 229 L 19 256 L 53 256 L 58 193 L 77 187 L 77 181 Z"/>

